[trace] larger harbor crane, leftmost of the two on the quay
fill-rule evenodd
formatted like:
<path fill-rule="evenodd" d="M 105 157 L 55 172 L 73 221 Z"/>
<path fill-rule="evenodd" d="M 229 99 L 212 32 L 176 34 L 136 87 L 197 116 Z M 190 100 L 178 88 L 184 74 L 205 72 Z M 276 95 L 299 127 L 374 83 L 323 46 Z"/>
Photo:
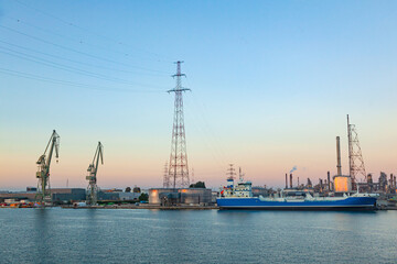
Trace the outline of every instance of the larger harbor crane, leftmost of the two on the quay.
<path fill-rule="evenodd" d="M 50 141 L 45 147 L 44 154 L 39 157 L 36 162 L 39 169 L 36 173 L 37 183 L 37 193 L 35 195 L 35 200 L 40 206 L 45 206 L 45 204 L 52 202 L 51 188 L 50 188 L 50 165 L 55 148 L 56 163 L 58 162 L 58 148 L 60 148 L 60 135 L 53 131 Z M 49 151 L 49 155 L 46 155 Z"/>

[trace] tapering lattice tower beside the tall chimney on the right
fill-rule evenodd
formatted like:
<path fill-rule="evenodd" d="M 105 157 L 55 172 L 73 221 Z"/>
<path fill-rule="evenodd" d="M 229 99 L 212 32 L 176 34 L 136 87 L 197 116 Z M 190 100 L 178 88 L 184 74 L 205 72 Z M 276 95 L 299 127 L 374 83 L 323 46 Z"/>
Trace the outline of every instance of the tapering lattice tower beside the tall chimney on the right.
<path fill-rule="evenodd" d="M 358 176 L 363 176 L 366 180 L 366 172 L 364 166 L 363 154 L 360 147 L 358 135 L 355 124 L 351 124 L 347 114 L 347 138 L 348 138 L 348 167 L 350 176 L 353 183 L 357 183 Z"/>

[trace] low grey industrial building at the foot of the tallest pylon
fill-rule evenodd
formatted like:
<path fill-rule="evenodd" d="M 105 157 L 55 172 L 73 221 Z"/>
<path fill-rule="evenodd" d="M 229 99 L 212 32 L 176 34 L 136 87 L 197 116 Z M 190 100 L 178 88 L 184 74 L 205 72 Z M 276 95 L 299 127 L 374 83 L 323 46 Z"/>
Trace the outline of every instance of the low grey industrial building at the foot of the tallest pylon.
<path fill-rule="evenodd" d="M 206 188 L 152 188 L 149 204 L 160 206 L 211 205 L 212 190 Z"/>

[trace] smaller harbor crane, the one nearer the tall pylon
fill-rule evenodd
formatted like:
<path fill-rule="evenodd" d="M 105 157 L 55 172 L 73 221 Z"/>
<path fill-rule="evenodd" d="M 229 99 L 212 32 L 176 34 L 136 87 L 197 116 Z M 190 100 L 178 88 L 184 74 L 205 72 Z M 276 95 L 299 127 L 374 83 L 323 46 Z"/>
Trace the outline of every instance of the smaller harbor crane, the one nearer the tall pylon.
<path fill-rule="evenodd" d="M 93 163 L 89 164 L 87 168 L 88 172 L 88 175 L 86 177 L 86 179 L 88 180 L 87 204 L 92 206 L 95 206 L 98 201 L 98 186 L 97 186 L 96 175 L 98 172 L 99 157 L 101 164 L 104 164 L 104 145 L 100 142 L 98 142 L 98 146 L 95 152 Z"/>

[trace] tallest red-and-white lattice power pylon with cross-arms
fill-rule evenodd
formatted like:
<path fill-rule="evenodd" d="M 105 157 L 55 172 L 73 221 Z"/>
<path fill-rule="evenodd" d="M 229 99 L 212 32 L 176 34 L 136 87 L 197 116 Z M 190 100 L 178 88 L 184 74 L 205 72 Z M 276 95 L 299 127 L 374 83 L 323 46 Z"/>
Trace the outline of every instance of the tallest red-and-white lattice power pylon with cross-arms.
<path fill-rule="evenodd" d="M 173 77 L 176 77 L 176 86 L 174 89 L 168 91 L 175 92 L 171 155 L 169 165 L 169 184 L 173 188 L 189 187 L 190 185 L 182 99 L 182 92 L 190 89 L 182 87 L 181 77 L 185 75 L 181 74 L 181 63 L 183 62 L 176 62 L 176 74 L 173 75 Z"/>

